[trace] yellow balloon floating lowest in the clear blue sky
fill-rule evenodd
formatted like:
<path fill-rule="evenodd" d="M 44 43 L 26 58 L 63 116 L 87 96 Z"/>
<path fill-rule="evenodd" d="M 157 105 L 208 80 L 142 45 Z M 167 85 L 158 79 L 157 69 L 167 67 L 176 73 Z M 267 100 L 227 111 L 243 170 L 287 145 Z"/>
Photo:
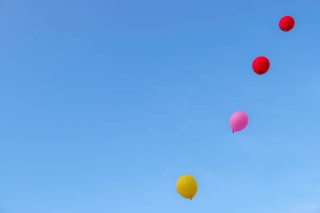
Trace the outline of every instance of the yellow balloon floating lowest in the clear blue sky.
<path fill-rule="evenodd" d="M 190 175 L 180 176 L 175 186 L 179 195 L 191 200 L 196 195 L 198 190 L 197 181 Z"/>

